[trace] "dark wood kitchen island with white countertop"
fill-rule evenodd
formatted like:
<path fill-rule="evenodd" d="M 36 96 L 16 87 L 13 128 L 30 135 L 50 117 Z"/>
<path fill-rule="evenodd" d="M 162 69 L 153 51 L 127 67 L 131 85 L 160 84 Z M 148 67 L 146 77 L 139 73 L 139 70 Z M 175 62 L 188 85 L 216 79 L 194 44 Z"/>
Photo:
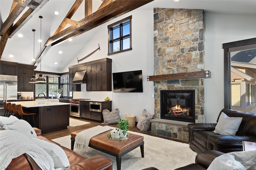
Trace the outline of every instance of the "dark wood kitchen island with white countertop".
<path fill-rule="evenodd" d="M 45 102 L 38 104 L 36 101 L 17 102 L 24 111 L 36 113 L 36 127 L 43 133 L 67 129 L 69 125 L 69 103 Z"/>

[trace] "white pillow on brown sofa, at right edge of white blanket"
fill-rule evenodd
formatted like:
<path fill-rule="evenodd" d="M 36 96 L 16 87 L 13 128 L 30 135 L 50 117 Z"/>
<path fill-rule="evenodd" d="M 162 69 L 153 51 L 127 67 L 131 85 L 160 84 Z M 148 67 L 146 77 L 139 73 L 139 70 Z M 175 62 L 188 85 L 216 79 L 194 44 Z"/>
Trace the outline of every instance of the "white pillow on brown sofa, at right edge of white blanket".
<path fill-rule="evenodd" d="M 68 157 L 64 150 L 58 145 L 38 138 L 30 138 L 30 140 L 50 154 L 54 162 L 54 168 L 68 168 L 70 166 Z"/>

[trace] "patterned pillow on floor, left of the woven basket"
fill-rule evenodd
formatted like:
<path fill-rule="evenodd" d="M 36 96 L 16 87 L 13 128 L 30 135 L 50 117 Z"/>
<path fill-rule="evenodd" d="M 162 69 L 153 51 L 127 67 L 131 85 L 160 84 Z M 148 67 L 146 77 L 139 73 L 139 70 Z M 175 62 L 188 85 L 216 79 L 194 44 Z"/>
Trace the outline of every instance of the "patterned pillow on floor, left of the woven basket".
<path fill-rule="evenodd" d="M 111 112 L 108 109 L 104 109 L 102 111 L 104 122 L 102 124 L 114 124 L 118 123 L 118 120 L 120 120 L 118 115 L 118 109 L 114 109 Z"/>

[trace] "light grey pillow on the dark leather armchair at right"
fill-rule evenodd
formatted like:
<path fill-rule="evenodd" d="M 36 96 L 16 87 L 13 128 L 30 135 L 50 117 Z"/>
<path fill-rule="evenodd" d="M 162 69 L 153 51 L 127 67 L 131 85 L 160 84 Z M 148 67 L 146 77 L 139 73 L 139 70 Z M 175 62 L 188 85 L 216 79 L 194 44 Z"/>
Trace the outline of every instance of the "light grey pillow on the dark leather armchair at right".
<path fill-rule="evenodd" d="M 222 112 L 213 132 L 220 135 L 236 135 L 242 119 L 242 117 L 228 117 Z"/>

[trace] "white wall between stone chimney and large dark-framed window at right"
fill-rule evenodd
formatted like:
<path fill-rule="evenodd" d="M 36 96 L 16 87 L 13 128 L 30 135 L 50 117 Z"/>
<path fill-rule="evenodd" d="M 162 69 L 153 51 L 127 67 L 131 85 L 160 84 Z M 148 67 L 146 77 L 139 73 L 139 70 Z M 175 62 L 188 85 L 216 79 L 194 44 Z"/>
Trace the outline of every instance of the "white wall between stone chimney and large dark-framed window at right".
<path fill-rule="evenodd" d="M 212 72 L 205 79 L 205 121 L 216 122 L 224 108 L 223 43 L 256 37 L 256 16 L 205 14 L 204 68 Z"/>

